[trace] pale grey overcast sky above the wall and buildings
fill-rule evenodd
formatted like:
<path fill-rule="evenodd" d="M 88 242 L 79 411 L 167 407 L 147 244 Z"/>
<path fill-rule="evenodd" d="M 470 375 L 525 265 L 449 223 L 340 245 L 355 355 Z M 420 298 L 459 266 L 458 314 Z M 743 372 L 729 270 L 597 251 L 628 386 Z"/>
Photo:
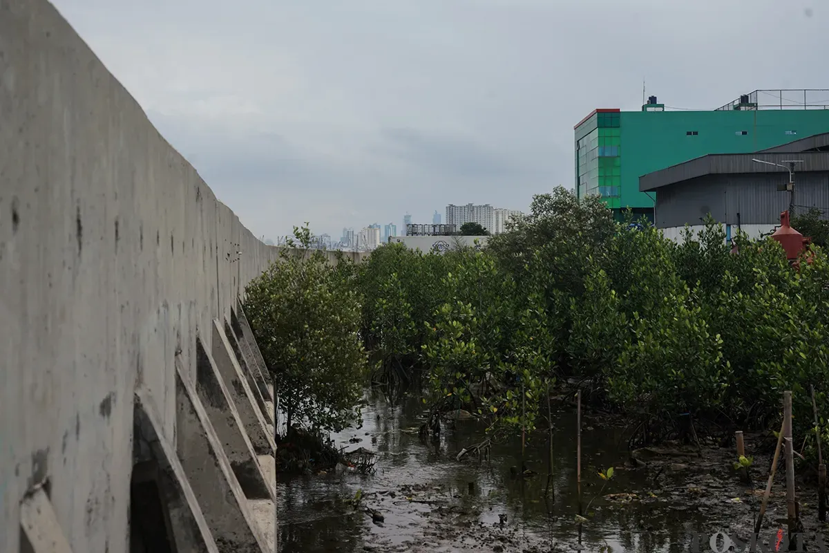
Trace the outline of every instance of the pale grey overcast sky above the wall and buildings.
<path fill-rule="evenodd" d="M 573 126 L 647 94 L 829 89 L 818 0 L 55 0 L 256 235 L 572 187 Z"/>

